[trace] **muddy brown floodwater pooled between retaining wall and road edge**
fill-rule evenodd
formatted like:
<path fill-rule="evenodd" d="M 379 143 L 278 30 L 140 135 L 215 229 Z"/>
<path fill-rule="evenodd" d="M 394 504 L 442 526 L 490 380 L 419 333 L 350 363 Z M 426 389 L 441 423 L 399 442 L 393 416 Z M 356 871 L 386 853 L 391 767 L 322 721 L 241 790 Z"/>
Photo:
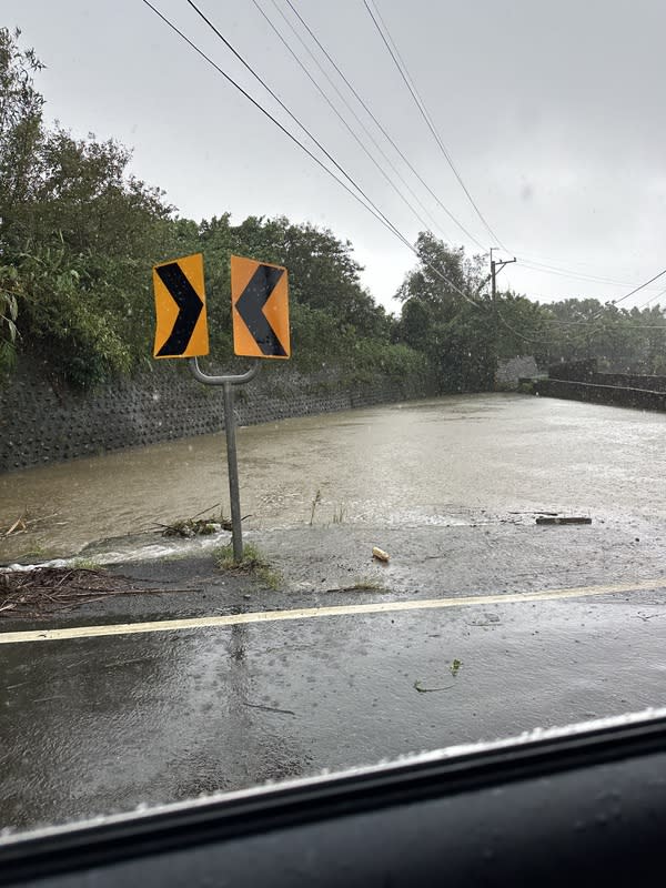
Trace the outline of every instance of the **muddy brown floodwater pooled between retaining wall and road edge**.
<path fill-rule="evenodd" d="M 663 517 L 665 433 L 662 414 L 506 394 L 244 427 L 244 526 L 452 525 L 537 511 Z M 6 474 L 0 527 L 38 521 L 0 541 L 0 562 L 75 554 L 215 504 L 229 515 L 223 433 Z"/>

